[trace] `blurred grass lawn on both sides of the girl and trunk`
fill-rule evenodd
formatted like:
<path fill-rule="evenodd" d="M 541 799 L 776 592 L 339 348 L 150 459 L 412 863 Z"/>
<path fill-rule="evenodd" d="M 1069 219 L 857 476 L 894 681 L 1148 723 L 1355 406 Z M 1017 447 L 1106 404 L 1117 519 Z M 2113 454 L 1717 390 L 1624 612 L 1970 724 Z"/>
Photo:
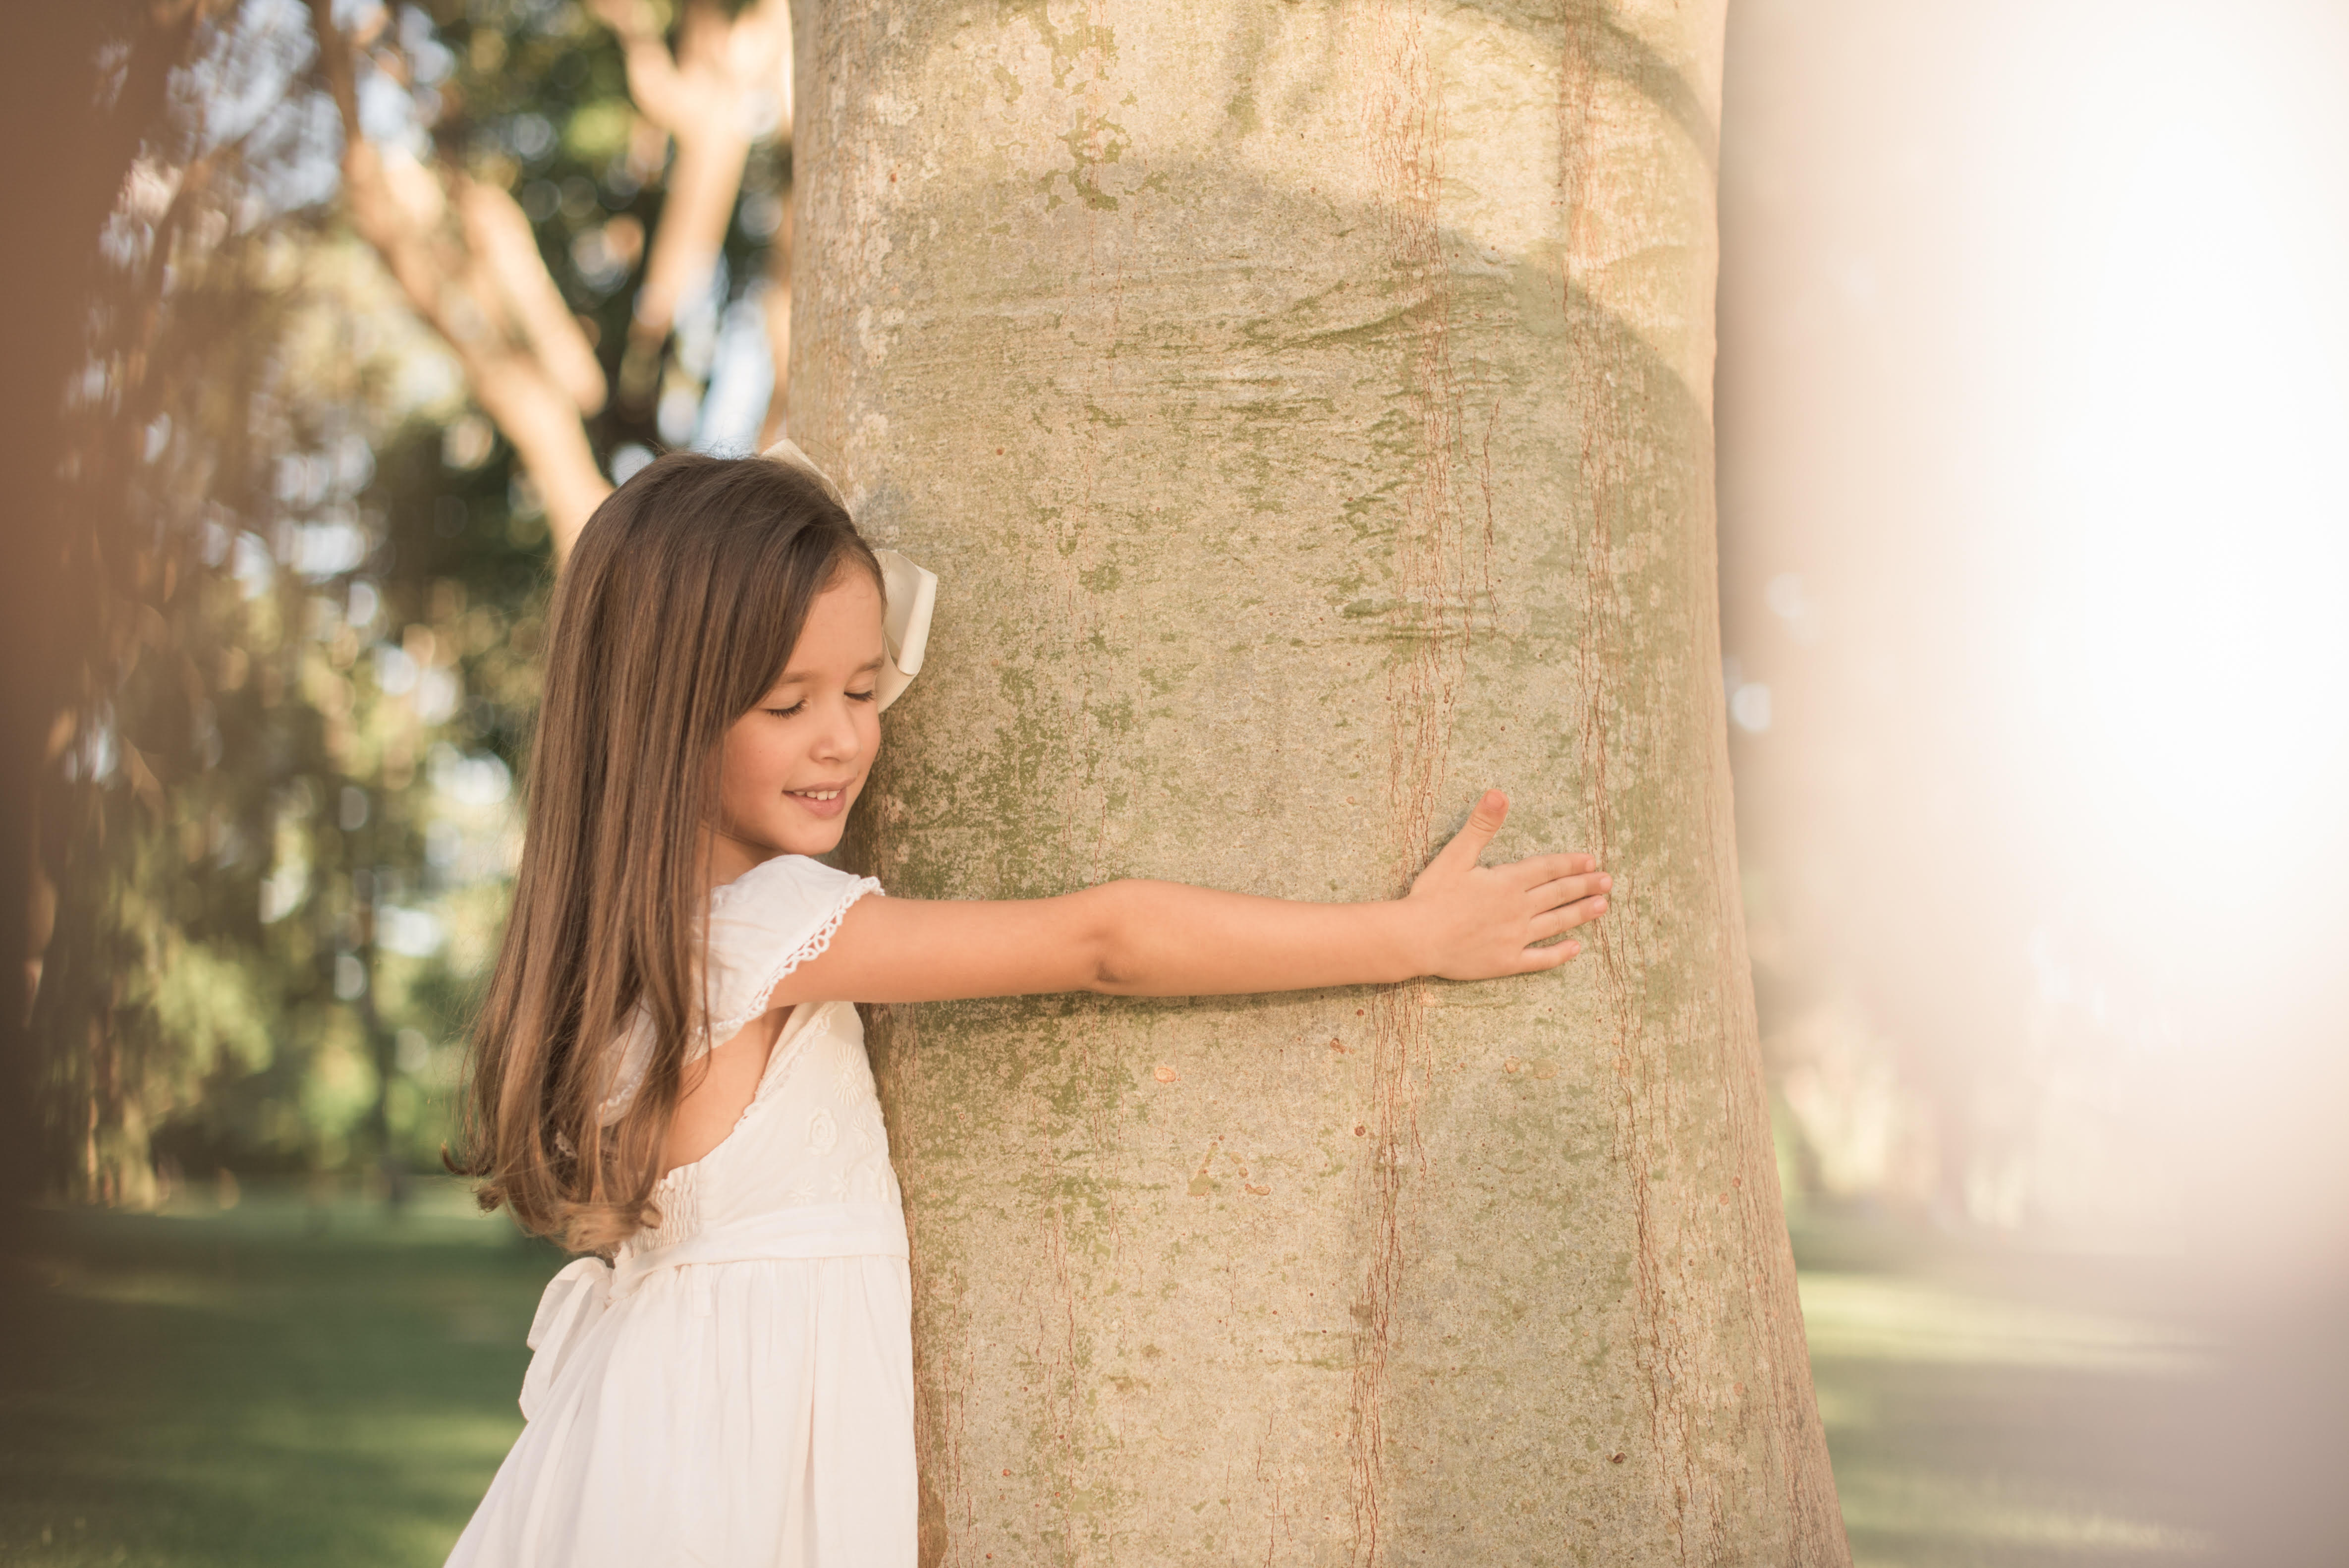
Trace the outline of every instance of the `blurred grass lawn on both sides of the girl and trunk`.
<path fill-rule="evenodd" d="M 2011 1256 L 1832 1228 L 1797 1253 L 1858 1563 L 2210 1556 L 2182 1336 Z M 437 1566 L 521 1430 L 557 1265 L 453 1183 L 399 1218 L 298 1192 L 42 1214 L 0 1277 L 0 1563 Z"/>

